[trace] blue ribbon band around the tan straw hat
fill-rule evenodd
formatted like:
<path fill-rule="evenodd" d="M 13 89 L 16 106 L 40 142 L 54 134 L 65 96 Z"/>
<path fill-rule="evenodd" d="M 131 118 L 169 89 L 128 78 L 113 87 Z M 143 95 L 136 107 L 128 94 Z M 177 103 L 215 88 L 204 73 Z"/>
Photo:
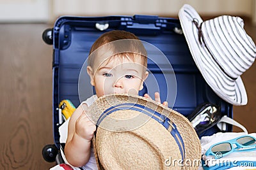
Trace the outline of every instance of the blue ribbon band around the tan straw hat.
<path fill-rule="evenodd" d="M 107 110 L 105 110 L 99 117 L 97 121 L 97 126 L 104 120 L 105 117 L 110 115 L 111 113 L 118 111 L 118 110 L 134 110 L 139 111 L 140 113 L 144 113 L 145 115 L 148 115 L 148 117 L 153 118 L 159 124 L 163 125 L 163 127 L 172 134 L 173 138 L 175 139 L 177 145 L 179 146 L 180 155 L 182 157 L 182 160 L 184 160 L 185 157 L 185 146 L 184 142 L 180 136 L 180 133 L 176 127 L 176 125 L 165 115 L 161 115 L 155 110 L 152 110 L 150 108 L 147 108 L 146 106 L 142 106 L 140 104 L 134 104 L 134 103 L 124 103 L 124 104 L 118 104 L 116 106 L 111 106 Z"/>

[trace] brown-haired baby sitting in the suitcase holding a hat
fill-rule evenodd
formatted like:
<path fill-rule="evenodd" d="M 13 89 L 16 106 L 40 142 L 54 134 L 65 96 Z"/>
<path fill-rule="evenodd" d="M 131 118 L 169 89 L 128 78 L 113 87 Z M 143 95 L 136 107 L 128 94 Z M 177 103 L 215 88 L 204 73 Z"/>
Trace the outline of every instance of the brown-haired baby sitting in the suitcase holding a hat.
<path fill-rule="evenodd" d="M 97 169 L 91 145 L 96 126 L 86 115 L 86 108 L 106 94 L 138 95 L 148 76 L 147 52 L 131 32 L 106 32 L 92 45 L 87 73 L 96 95 L 84 101 L 72 114 L 68 123 L 65 156 L 72 166 Z M 150 98 L 148 94 L 144 97 Z M 155 93 L 155 100 L 161 103 L 158 92 Z M 166 101 L 163 104 L 168 105 Z"/>

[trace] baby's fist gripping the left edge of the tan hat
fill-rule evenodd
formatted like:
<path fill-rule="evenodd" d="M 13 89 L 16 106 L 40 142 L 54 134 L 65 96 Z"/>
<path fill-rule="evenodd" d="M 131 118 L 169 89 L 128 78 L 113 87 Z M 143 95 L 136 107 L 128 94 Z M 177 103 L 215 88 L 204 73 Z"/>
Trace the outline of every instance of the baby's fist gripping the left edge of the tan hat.
<path fill-rule="evenodd" d="M 76 120 L 76 134 L 87 141 L 91 141 L 93 133 L 96 131 L 96 125 L 83 111 L 82 115 Z"/>

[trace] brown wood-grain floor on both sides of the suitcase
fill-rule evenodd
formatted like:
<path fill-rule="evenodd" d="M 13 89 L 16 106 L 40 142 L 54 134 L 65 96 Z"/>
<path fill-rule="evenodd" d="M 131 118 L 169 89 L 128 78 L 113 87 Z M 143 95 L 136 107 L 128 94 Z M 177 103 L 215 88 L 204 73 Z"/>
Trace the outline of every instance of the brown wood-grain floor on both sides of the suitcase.
<path fill-rule="evenodd" d="M 52 136 L 52 46 L 42 32 L 52 25 L 0 24 L 0 169 L 49 169 L 42 148 Z M 256 27 L 246 24 L 256 42 Z M 256 64 L 243 74 L 246 106 L 234 119 L 256 132 Z M 237 131 L 238 129 L 234 129 Z"/>

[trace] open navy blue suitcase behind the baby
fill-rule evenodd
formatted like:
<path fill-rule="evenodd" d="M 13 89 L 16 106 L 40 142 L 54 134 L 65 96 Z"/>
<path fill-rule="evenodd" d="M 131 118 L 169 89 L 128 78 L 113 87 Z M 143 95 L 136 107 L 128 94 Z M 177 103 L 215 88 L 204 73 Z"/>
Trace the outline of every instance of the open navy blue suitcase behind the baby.
<path fill-rule="evenodd" d="M 148 70 L 154 74 L 159 85 L 161 101 L 166 99 L 168 101 L 167 91 L 172 95 L 172 89 L 177 89 L 177 94 L 173 92 L 173 95 L 176 95 L 175 101 L 168 101 L 169 105 L 173 106 L 173 110 L 188 117 L 196 106 L 210 102 L 220 107 L 222 115 L 232 118 L 232 104 L 220 99 L 198 71 L 182 34 L 179 20 L 148 15 L 60 17 L 56 20 L 54 28 L 45 30 L 43 34 L 45 43 L 53 44 L 52 119 L 54 143 L 57 149 L 60 149 L 58 127 L 62 122 L 58 111 L 59 103 L 63 99 L 68 99 L 74 106 L 79 106 L 78 79 L 81 67 L 88 57 L 93 42 L 101 34 L 111 30 L 132 32 L 142 41 L 156 46 L 164 53 L 172 66 L 168 66 L 168 62 L 161 59 L 160 56 L 154 57 L 154 61 L 148 60 Z M 168 82 L 164 80 L 163 72 L 164 74 L 175 75 L 177 87 L 168 86 Z M 150 81 L 147 80 L 146 84 L 150 85 Z M 150 88 L 152 89 L 152 87 Z M 88 90 L 92 92 L 92 87 L 88 87 Z M 143 89 L 140 95 L 143 95 L 147 90 Z M 150 94 L 150 96 L 154 95 Z M 84 99 L 87 97 L 90 96 L 85 95 Z M 201 136 L 211 135 L 219 131 L 214 126 Z M 232 131 L 232 126 L 227 126 L 227 131 Z M 44 152 L 48 154 L 52 152 L 52 149 L 44 150 Z M 49 159 L 54 158 L 55 153 L 51 154 Z M 47 156 L 44 155 L 44 157 Z"/>

